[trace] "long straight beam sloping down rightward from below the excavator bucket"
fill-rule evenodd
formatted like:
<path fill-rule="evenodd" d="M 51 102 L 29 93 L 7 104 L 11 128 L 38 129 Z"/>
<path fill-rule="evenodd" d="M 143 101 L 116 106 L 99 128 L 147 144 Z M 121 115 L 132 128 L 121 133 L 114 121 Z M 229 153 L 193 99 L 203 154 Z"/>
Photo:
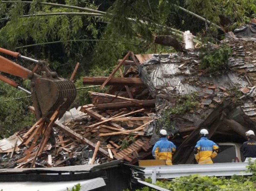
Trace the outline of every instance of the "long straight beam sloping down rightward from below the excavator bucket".
<path fill-rule="evenodd" d="M 61 130 L 63 130 L 64 132 L 68 133 L 69 135 L 71 135 L 73 138 L 79 139 L 80 141 L 82 141 L 85 144 L 88 144 L 90 147 L 95 148 L 96 144 L 93 143 L 92 141 L 89 141 L 88 139 L 84 138 L 82 135 L 74 132 L 73 130 L 71 130 L 69 127 L 62 125 L 61 123 L 58 123 L 55 121 L 55 125 L 57 125 L 57 127 Z M 108 151 L 102 149 L 101 147 L 99 147 L 99 152 L 106 156 L 107 158 L 109 158 L 109 154 Z"/>

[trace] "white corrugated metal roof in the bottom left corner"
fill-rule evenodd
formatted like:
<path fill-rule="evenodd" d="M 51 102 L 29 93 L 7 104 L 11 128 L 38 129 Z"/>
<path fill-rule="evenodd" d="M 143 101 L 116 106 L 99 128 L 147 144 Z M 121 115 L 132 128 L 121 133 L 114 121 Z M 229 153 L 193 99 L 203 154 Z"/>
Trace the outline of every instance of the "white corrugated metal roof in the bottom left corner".
<path fill-rule="evenodd" d="M 67 181 L 67 182 L 2 182 L 0 183 L 0 190 L 3 191 L 66 191 L 67 188 L 72 190 L 72 187 L 80 183 L 80 191 L 93 190 L 106 186 L 103 178 L 93 178 L 90 180 Z"/>

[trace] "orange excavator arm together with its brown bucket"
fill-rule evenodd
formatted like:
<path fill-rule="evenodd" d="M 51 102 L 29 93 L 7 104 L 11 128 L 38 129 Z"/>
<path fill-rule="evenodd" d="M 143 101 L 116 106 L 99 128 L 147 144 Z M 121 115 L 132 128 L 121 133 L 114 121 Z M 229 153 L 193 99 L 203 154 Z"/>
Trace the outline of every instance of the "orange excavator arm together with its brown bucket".
<path fill-rule="evenodd" d="M 36 118 L 40 119 L 41 117 L 45 117 L 46 119 L 49 119 L 56 109 L 59 110 L 56 119 L 62 117 L 76 97 L 74 83 L 58 77 L 57 73 L 52 72 L 45 62 L 21 56 L 20 53 L 3 48 L 0 48 L 0 52 L 13 56 L 14 58 L 23 58 L 36 62 L 36 66 L 30 71 L 27 68 L 0 56 L 0 72 L 31 80 L 31 96 L 36 112 Z M 3 75 L 0 75 L 0 80 L 13 87 L 22 89 L 16 82 Z"/>

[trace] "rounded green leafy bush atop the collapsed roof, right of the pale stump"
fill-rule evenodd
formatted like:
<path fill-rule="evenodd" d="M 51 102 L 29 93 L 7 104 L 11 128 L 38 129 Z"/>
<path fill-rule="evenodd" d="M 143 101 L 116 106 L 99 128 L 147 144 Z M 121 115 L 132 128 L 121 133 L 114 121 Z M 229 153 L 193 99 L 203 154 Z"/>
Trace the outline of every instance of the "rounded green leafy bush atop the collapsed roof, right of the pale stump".
<path fill-rule="evenodd" d="M 225 69 L 231 55 L 232 49 L 227 45 L 222 45 L 216 50 L 206 50 L 199 56 L 202 59 L 201 67 L 210 71 Z"/>

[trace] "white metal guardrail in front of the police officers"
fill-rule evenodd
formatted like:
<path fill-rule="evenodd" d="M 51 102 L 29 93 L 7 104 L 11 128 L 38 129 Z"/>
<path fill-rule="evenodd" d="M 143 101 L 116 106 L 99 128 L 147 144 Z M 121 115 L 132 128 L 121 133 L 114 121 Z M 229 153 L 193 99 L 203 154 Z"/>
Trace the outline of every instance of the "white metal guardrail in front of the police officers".
<path fill-rule="evenodd" d="M 171 165 L 171 166 L 143 166 L 145 169 L 145 177 L 151 177 L 152 183 L 160 178 L 176 178 L 181 176 L 189 176 L 191 174 L 199 174 L 202 176 L 232 176 L 251 175 L 248 172 L 248 163 L 245 162 L 227 162 L 214 163 L 204 165 Z"/>

